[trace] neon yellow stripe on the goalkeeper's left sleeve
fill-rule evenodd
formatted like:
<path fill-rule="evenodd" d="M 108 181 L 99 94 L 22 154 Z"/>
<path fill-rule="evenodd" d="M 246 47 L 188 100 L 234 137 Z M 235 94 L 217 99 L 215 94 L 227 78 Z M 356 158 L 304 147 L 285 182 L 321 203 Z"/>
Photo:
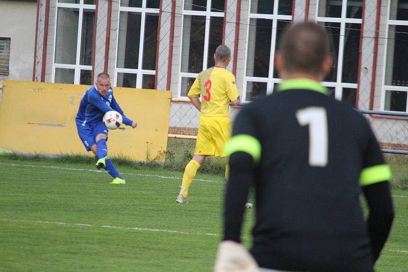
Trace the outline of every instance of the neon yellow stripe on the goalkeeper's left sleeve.
<path fill-rule="evenodd" d="M 258 163 L 261 159 L 261 143 L 257 138 L 247 135 L 235 135 L 227 142 L 225 153 L 230 156 L 234 152 L 245 152 L 252 156 L 253 161 Z"/>

